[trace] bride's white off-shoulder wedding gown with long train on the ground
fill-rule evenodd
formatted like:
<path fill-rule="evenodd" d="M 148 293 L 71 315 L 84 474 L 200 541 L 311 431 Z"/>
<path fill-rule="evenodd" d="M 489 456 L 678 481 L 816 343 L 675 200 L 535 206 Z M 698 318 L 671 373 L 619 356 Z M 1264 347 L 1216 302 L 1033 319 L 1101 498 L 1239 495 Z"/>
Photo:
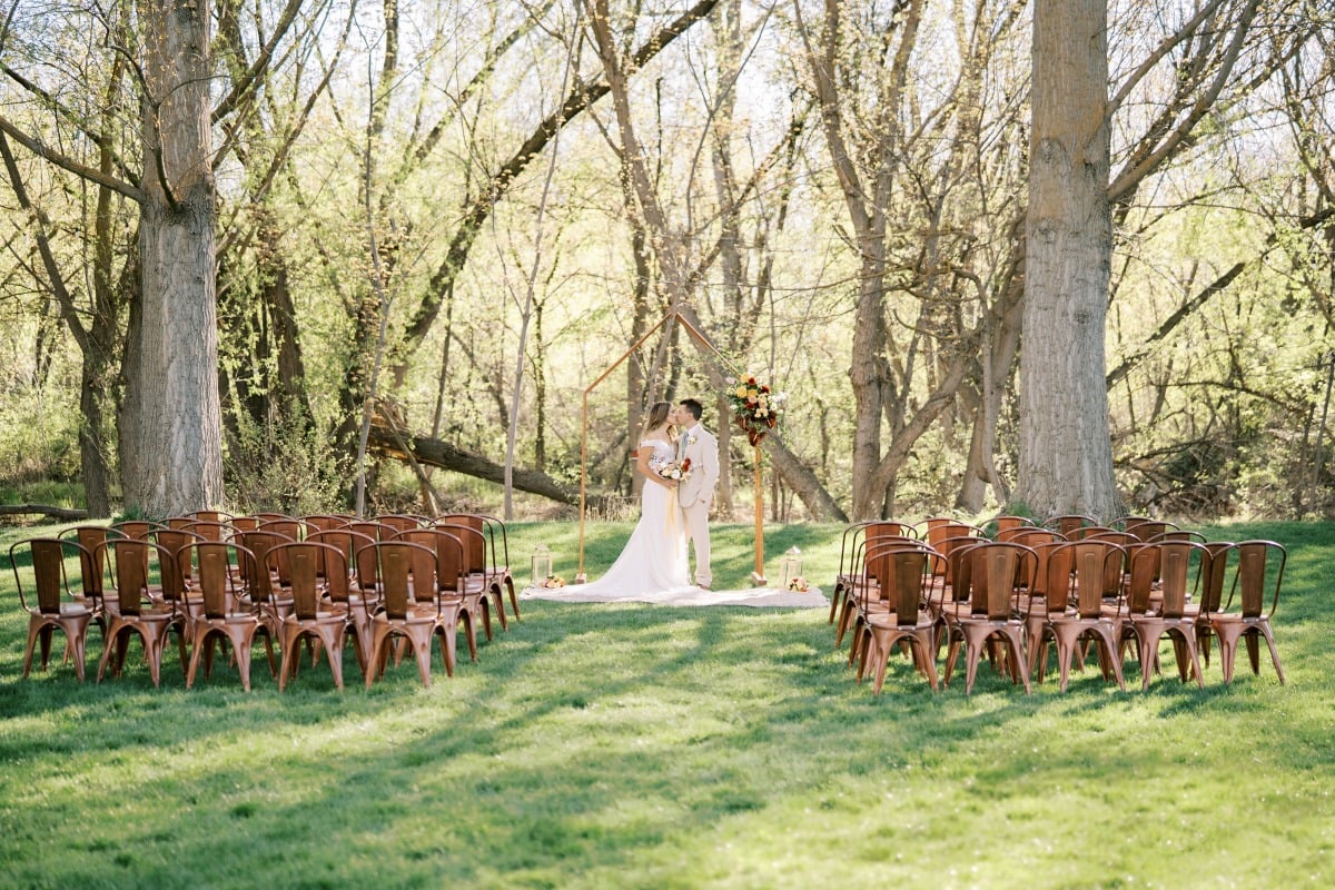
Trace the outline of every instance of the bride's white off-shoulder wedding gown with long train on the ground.
<path fill-rule="evenodd" d="M 646 439 L 639 447 L 654 450 L 651 463 L 668 463 L 677 458 L 676 447 L 662 439 Z M 639 522 L 607 574 L 589 584 L 543 590 L 539 595 L 542 599 L 611 603 L 653 602 L 692 591 L 698 592 L 700 588 L 689 580 L 686 530 L 677 492 L 655 482 L 645 482 Z"/>

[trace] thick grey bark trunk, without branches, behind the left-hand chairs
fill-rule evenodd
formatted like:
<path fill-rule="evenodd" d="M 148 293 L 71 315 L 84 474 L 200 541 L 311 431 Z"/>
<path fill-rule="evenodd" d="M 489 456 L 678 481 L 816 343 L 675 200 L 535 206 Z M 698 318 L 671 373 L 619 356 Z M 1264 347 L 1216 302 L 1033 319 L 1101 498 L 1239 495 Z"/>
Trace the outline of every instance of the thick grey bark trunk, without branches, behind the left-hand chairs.
<path fill-rule="evenodd" d="M 223 498 L 210 11 L 148 0 L 139 324 L 121 418 L 125 507 L 160 516 Z"/>

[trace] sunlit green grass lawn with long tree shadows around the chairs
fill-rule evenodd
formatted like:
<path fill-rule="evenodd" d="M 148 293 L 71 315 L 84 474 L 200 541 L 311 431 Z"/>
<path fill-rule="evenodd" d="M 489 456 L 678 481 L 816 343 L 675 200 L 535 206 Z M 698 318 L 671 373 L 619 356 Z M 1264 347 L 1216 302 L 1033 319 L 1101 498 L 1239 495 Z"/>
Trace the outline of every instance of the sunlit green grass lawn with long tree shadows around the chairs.
<path fill-rule="evenodd" d="M 591 576 L 627 531 L 589 527 Z M 258 655 L 251 694 L 187 691 L 171 651 L 155 690 L 138 646 L 97 685 L 96 634 L 89 682 L 23 681 L 5 564 L 0 887 L 1331 886 L 1335 526 L 1207 531 L 1290 547 L 1287 686 L 1246 654 L 1224 686 L 1216 650 L 1204 690 L 1128 662 L 1125 694 L 984 667 L 967 698 L 893 659 L 873 698 L 825 610 L 539 600 L 430 690 L 405 662 L 367 693 L 348 655 L 347 691 L 280 695 Z M 766 567 L 797 546 L 828 587 L 840 532 L 769 530 Z M 749 527 L 714 535 L 744 586 Z M 574 524 L 518 523 L 521 579 L 539 540 L 573 576 Z"/>

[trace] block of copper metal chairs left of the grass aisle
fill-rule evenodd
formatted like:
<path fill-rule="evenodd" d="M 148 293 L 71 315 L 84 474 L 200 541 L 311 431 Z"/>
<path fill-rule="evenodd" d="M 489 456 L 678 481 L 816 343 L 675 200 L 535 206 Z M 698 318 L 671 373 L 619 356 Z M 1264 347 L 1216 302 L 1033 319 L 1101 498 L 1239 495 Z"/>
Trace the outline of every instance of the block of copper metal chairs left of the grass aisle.
<path fill-rule="evenodd" d="M 477 660 L 478 619 L 487 639 L 491 608 L 507 627 L 505 592 L 518 619 L 507 559 L 497 560 L 497 552 L 509 552 L 503 523 L 474 514 L 375 520 L 212 514 L 167 523 L 79 526 L 59 538 L 11 547 L 20 602 L 29 614 L 24 677 L 37 647 L 45 670 L 53 634 L 60 631 L 65 658 L 83 679 L 87 631 L 97 624 L 99 681 L 108 666 L 120 674 L 129 642 L 138 638 L 159 685 L 163 648 L 175 634 L 187 687 L 200 663 L 210 675 L 223 642 L 248 690 L 256 636 L 280 689 L 296 675 L 303 640 L 312 662 L 328 652 L 342 689 L 347 639 L 367 686 L 383 675 L 391 652 L 398 662 L 406 650 L 430 686 L 433 639 L 441 640 L 442 660 L 453 675 L 459 626 Z M 67 566 L 75 558 L 77 576 Z M 36 594 L 35 604 L 28 603 L 28 591 Z"/>

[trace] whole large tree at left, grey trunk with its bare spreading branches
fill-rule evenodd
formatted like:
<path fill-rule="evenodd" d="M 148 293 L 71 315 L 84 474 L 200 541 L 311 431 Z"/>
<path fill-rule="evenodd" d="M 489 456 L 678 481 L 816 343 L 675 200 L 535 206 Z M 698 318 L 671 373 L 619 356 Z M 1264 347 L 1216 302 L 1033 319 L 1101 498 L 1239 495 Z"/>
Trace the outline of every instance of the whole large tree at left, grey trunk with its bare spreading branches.
<path fill-rule="evenodd" d="M 296 5 L 292 0 L 288 15 L 275 27 L 275 43 L 295 17 Z M 138 288 L 128 288 L 120 368 L 125 382 L 117 420 L 120 476 L 128 510 L 168 515 L 223 500 L 212 172 L 215 109 L 210 96 L 212 13 L 207 5 L 179 7 L 162 0 L 144 3 L 136 11 L 135 27 L 104 17 L 92 20 L 89 32 L 105 35 L 105 47 L 128 72 L 134 89 L 131 107 L 139 109 L 138 171 L 109 155 L 113 144 L 108 121 L 103 132 L 91 131 L 77 115 L 12 69 L 7 75 L 21 83 L 35 103 L 53 107 L 52 117 L 72 125 L 71 144 L 97 145 L 99 164 L 88 165 L 56 151 L 3 116 L 0 129 L 107 195 L 129 199 L 139 212 L 138 255 L 125 267 L 138 275 Z M 254 88 L 256 75 L 271 59 L 271 48 L 268 44 L 247 76 L 232 84 L 219 116 L 231 113 L 236 101 Z M 121 79 L 113 75 L 108 84 L 105 108 L 113 109 L 123 104 Z M 57 131 L 55 143 L 63 141 Z M 17 189 L 12 171 L 11 180 Z M 107 212 L 104 204 L 99 199 L 99 220 Z M 97 231 L 107 231 L 101 221 Z M 107 324 L 117 316 L 108 299 L 113 286 L 105 256 L 107 236 L 99 234 L 96 244 L 95 324 Z M 64 303 L 79 339 L 72 303 Z M 91 356 L 103 362 L 104 368 L 105 338 L 91 336 L 92 332 L 84 338 L 85 362 Z M 89 498 L 89 504 L 97 500 Z"/>

